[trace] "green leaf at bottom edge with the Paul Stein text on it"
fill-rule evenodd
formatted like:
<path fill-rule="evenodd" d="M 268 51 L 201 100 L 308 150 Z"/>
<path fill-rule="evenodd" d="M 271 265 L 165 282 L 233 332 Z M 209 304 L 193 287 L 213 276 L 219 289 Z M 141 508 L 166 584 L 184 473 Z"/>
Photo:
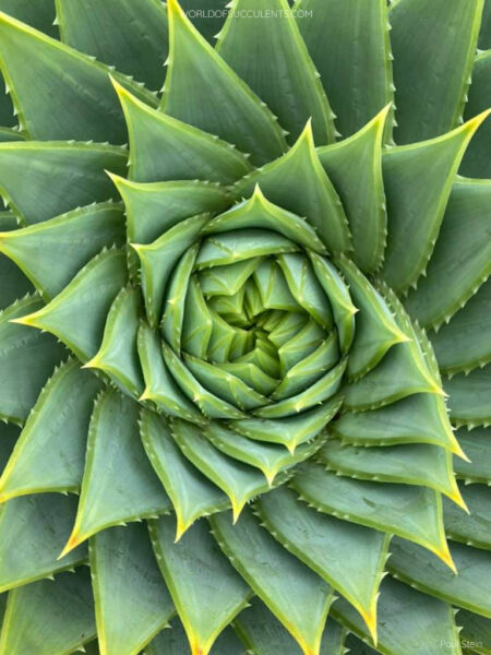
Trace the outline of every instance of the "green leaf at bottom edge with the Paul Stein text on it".
<path fill-rule="evenodd" d="M 368 631 L 357 611 L 343 598 L 336 600 L 333 617 L 359 638 L 368 640 Z M 458 632 L 450 605 L 421 594 L 392 577 L 386 577 L 379 599 L 378 652 L 384 655 L 460 655 Z M 371 655 L 361 651 L 360 655 Z"/>

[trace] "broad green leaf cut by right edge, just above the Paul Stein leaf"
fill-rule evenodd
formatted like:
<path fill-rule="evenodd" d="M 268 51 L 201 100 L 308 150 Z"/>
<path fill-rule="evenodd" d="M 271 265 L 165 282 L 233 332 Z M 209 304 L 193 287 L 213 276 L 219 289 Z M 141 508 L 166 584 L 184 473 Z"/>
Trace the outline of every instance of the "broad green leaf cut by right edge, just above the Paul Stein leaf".
<path fill-rule="evenodd" d="M 446 603 L 491 618 L 491 552 L 463 544 L 452 544 L 458 575 L 420 546 L 395 538 L 387 568 L 392 575 Z"/>

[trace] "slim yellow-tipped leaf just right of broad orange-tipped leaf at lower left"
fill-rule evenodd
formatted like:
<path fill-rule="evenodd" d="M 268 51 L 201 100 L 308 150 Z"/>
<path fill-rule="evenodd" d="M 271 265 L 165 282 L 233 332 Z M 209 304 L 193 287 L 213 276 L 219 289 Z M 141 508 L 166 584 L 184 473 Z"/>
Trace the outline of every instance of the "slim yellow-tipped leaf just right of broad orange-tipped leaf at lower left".
<path fill-rule="evenodd" d="M 225 493 L 181 453 L 165 418 L 144 410 L 141 436 L 152 466 L 172 501 L 177 515 L 176 540 L 200 516 L 229 507 Z"/>

